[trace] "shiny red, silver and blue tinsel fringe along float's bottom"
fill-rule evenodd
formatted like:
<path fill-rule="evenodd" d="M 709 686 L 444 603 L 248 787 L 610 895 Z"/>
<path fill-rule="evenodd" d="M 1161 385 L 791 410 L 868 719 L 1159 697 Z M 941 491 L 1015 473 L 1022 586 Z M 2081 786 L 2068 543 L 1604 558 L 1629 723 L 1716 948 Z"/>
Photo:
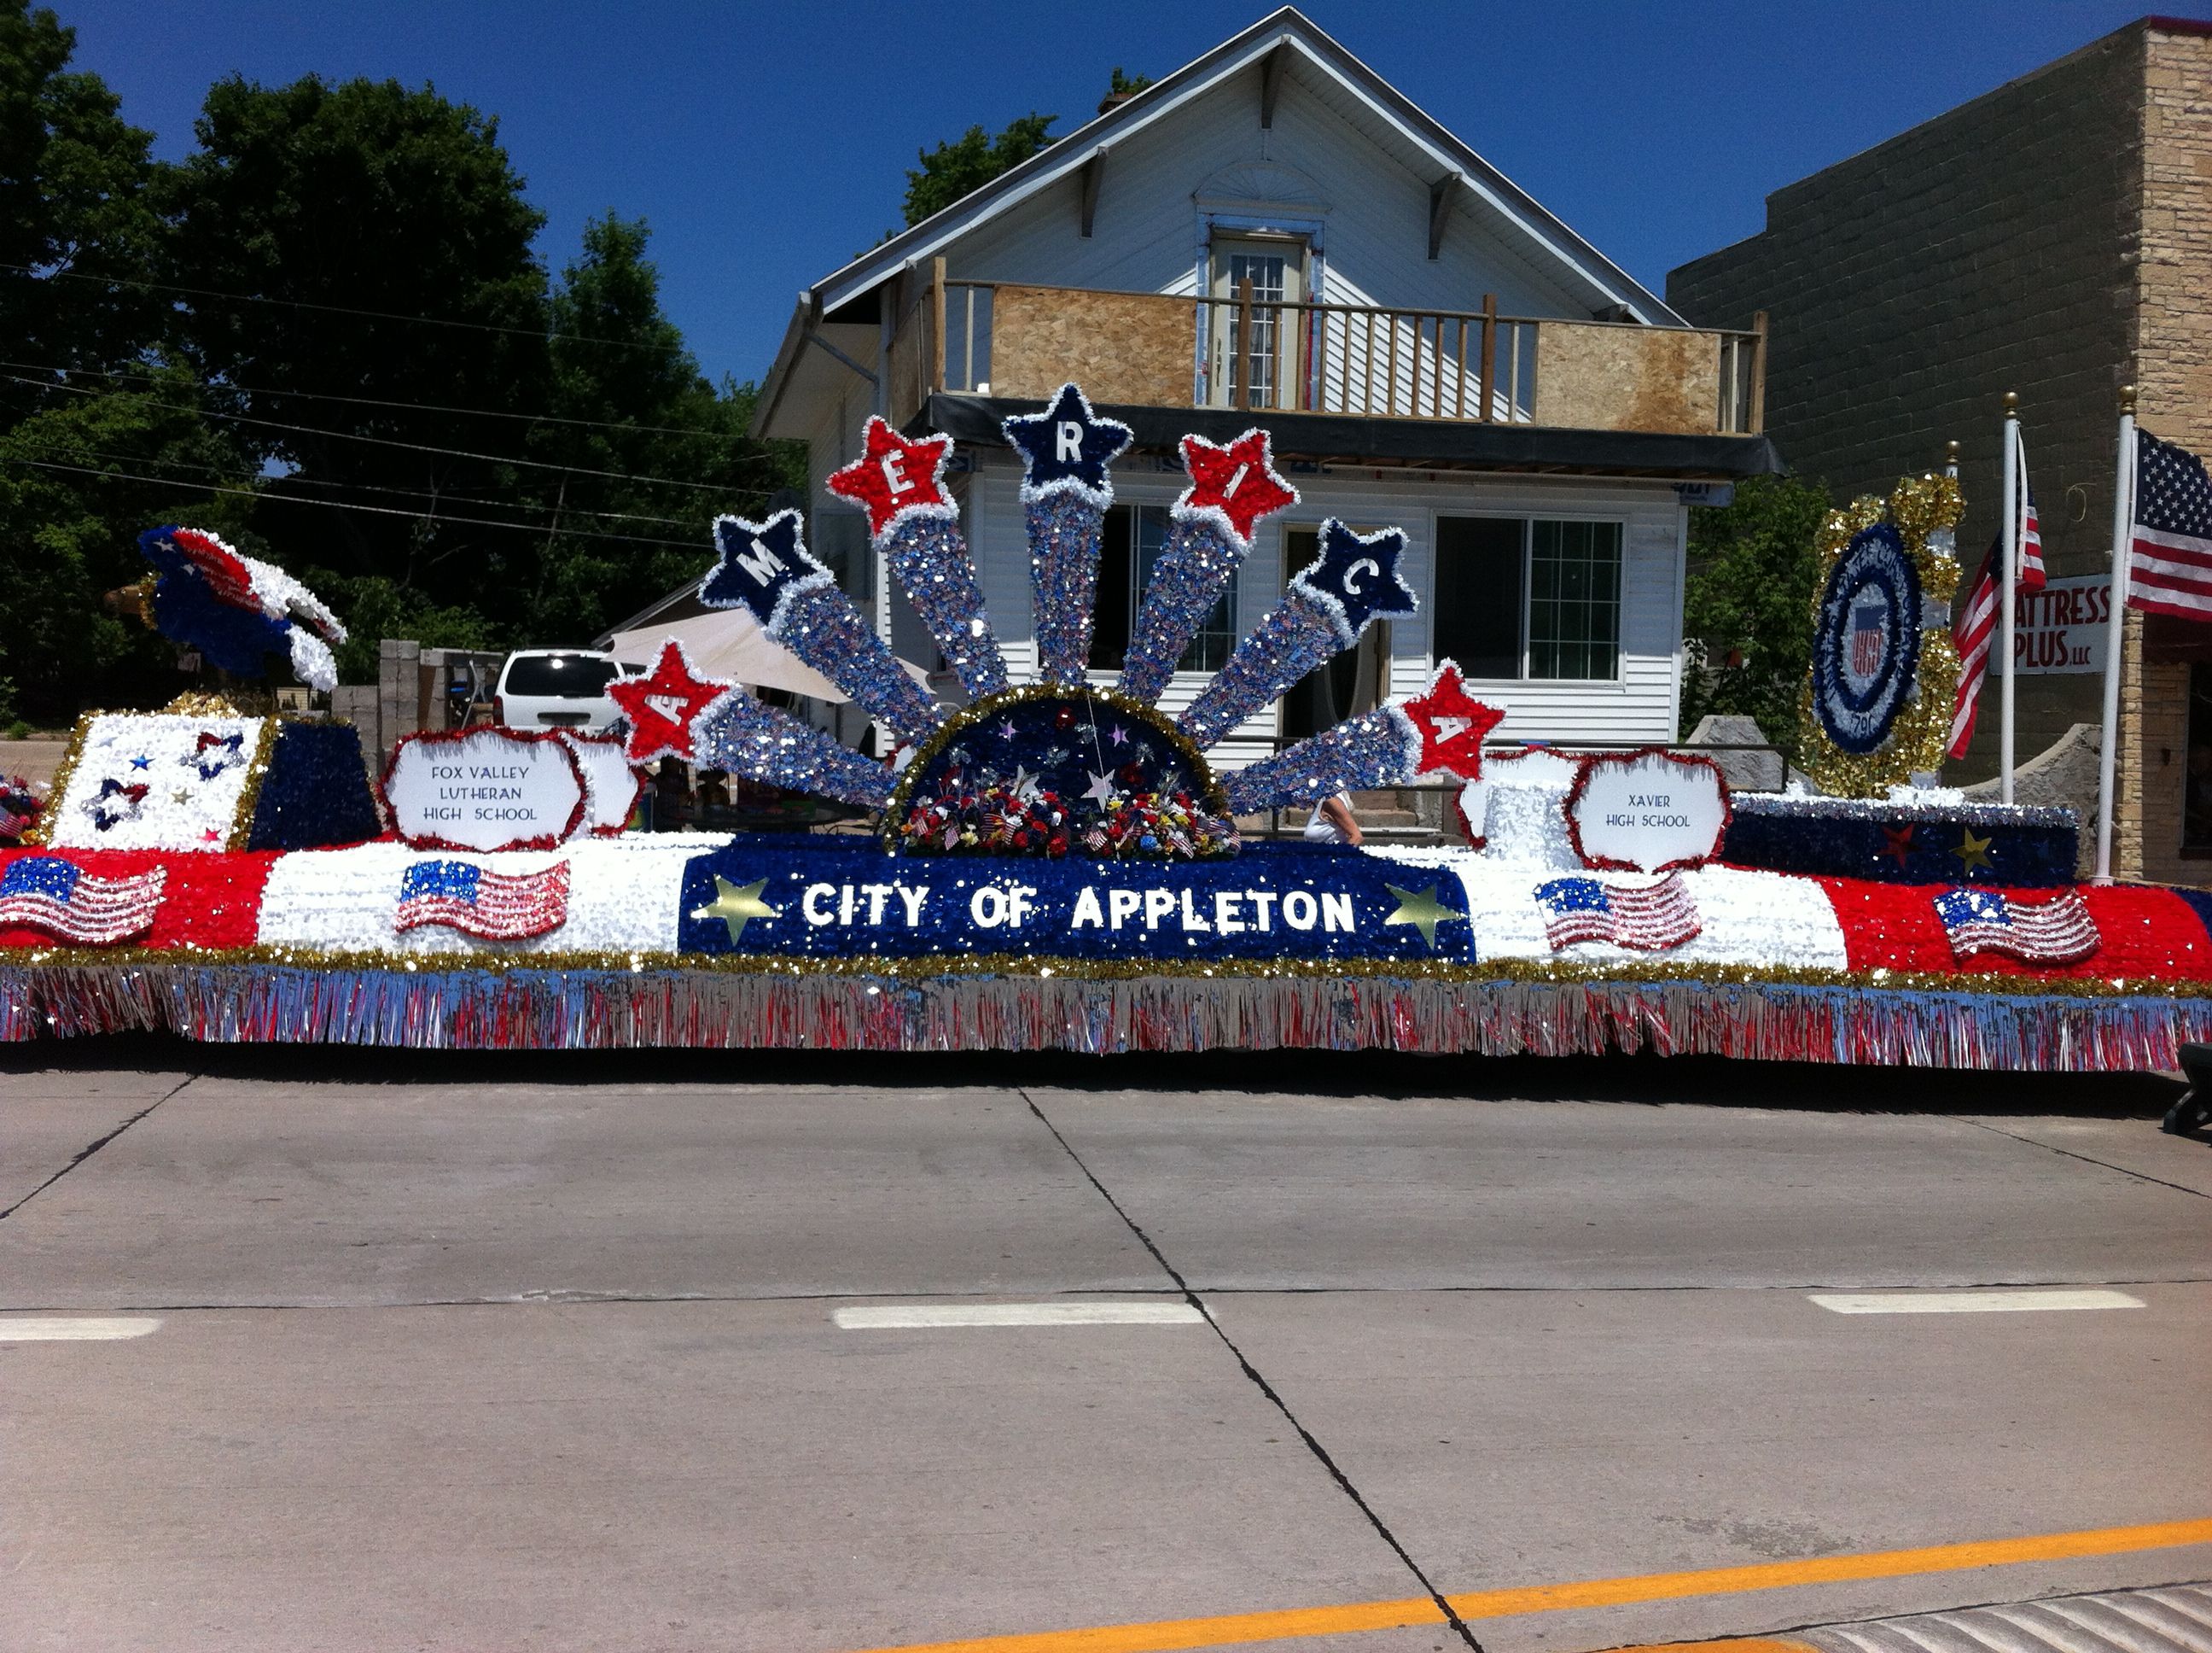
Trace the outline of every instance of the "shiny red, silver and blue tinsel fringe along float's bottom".
<path fill-rule="evenodd" d="M 1391 976 L 1033 978 L 737 971 L 0 967 L 0 1040 L 166 1031 L 414 1049 L 1214 1051 L 1739 1056 L 1955 1069 L 2172 1069 L 2212 1000 L 1783 983 Z"/>

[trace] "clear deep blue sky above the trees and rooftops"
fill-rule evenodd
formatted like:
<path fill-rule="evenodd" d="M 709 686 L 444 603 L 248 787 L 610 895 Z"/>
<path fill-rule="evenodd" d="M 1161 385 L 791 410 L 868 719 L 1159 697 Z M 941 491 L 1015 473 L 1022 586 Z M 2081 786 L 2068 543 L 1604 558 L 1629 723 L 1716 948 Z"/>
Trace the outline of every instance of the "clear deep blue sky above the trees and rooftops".
<path fill-rule="evenodd" d="M 431 82 L 500 117 L 566 261 L 584 219 L 653 223 L 710 374 L 757 378 L 796 292 L 898 223 L 905 168 L 969 124 L 1088 115 L 1263 0 L 44 0 L 77 66 L 184 155 L 208 82 Z M 2108 0 L 1360 4 L 1305 13 L 1652 288 L 1763 197 L 2141 15 Z M 2168 13 L 2208 15 L 2203 4 Z"/>

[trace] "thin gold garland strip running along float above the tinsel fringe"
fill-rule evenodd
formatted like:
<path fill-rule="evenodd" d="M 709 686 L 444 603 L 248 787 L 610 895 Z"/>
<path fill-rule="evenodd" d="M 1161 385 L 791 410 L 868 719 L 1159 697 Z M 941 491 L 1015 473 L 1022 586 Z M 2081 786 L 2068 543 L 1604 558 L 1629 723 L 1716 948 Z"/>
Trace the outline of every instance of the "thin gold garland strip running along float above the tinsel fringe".
<path fill-rule="evenodd" d="M 880 980 L 951 980 L 964 976 L 1137 980 L 1214 978 L 1400 978 L 1528 987 L 1840 987 L 1898 994 L 1973 994 L 1978 998 L 2203 998 L 2212 980 L 2150 980 L 2126 976 L 2011 976 L 1997 971 L 1947 974 L 1911 969 L 1792 969 L 1759 965 L 1606 963 L 1575 965 L 1535 958 L 1467 963 L 1460 958 L 1055 958 L 1046 954 L 942 954 L 929 958 L 805 958 L 790 954 L 668 954 L 668 952 L 542 952 L 542 954 L 398 954 L 383 949 L 319 952 L 307 947 L 20 947 L 0 949 L 0 967 L 62 969 L 111 965 L 117 969 L 206 965 L 279 965 L 290 969 L 380 969 L 400 976 L 453 971 L 595 971 L 595 974 L 712 974 L 712 976 L 845 976 Z"/>

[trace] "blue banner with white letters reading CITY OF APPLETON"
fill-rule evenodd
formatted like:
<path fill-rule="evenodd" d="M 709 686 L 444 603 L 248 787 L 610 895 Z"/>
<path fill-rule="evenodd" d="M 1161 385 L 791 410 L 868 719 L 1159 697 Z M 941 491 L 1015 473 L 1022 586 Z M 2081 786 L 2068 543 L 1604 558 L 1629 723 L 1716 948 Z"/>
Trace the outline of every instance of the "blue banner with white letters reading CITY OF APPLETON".
<path fill-rule="evenodd" d="M 874 839 L 732 839 L 684 867 L 677 947 L 803 958 L 1455 958 L 1444 867 L 1261 843 L 1228 861 L 891 856 Z"/>

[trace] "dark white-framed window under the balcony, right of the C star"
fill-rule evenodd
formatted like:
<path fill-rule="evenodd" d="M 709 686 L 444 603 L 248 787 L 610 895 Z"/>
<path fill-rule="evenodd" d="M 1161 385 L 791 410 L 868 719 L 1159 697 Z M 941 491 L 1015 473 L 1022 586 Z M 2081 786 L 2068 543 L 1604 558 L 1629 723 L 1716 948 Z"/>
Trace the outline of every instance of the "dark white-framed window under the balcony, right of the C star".
<path fill-rule="evenodd" d="M 1621 524 L 1440 516 L 1431 637 L 1469 677 L 1617 679 Z"/>

